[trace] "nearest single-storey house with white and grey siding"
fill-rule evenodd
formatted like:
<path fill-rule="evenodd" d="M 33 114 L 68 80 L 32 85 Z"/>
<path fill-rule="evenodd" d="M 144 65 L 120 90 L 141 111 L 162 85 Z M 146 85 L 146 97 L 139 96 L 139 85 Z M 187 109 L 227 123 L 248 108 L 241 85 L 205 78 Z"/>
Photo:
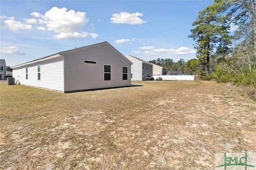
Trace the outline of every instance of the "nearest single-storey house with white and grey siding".
<path fill-rule="evenodd" d="M 78 92 L 131 86 L 131 64 L 103 42 L 13 66 L 12 76 L 28 86 Z"/>

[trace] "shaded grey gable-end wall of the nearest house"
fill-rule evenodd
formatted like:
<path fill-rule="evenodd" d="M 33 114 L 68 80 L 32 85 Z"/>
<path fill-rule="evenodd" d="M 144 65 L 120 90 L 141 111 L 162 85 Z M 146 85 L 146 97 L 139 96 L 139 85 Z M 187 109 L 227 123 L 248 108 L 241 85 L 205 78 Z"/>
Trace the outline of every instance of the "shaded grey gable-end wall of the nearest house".
<path fill-rule="evenodd" d="M 97 63 L 84 63 L 84 59 Z M 110 81 L 104 81 L 104 64 L 111 65 Z M 122 66 L 128 67 L 128 80 L 122 80 Z M 131 86 L 131 64 L 108 45 L 66 54 L 64 68 L 64 92 Z"/>

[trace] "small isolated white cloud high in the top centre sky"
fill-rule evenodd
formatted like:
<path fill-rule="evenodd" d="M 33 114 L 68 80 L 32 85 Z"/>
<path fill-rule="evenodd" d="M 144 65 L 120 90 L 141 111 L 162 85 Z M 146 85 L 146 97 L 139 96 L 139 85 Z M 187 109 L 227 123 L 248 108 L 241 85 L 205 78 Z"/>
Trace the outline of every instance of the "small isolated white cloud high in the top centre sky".
<path fill-rule="evenodd" d="M 120 13 L 112 14 L 110 21 L 112 23 L 127 23 L 132 25 L 146 23 L 147 21 L 144 21 L 141 18 L 139 18 L 140 16 L 143 16 L 143 14 L 139 12 L 135 12 L 135 13 L 120 12 Z"/>

